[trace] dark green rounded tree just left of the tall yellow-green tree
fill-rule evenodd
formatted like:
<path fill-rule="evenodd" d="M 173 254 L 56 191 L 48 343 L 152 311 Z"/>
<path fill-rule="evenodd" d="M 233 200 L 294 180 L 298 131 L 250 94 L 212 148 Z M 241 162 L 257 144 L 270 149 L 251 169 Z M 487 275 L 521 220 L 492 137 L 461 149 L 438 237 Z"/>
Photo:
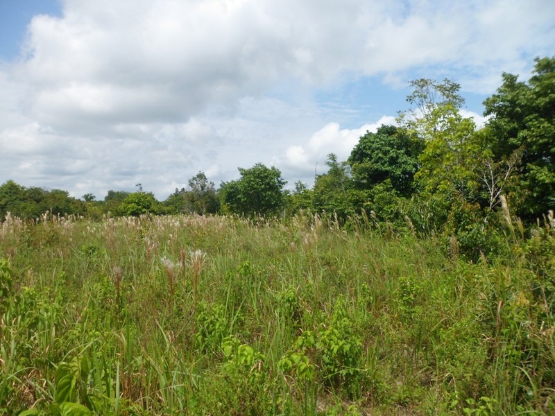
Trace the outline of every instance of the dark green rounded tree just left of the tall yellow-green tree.
<path fill-rule="evenodd" d="M 348 159 L 356 187 L 371 189 L 391 180 L 395 191 L 408 196 L 423 148 L 424 142 L 405 128 L 382 125 L 375 133 L 366 132 Z"/>

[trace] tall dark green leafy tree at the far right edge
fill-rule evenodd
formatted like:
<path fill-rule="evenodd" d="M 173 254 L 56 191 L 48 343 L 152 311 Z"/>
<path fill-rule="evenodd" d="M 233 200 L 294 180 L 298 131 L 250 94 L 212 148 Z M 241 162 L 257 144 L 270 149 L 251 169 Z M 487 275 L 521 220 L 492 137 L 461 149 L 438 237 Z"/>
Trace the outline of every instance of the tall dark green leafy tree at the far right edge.
<path fill-rule="evenodd" d="M 495 159 L 522 152 L 520 215 L 533 220 L 555 207 L 555 57 L 536 58 L 528 83 L 503 73 L 497 94 L 484 101 Z"/>

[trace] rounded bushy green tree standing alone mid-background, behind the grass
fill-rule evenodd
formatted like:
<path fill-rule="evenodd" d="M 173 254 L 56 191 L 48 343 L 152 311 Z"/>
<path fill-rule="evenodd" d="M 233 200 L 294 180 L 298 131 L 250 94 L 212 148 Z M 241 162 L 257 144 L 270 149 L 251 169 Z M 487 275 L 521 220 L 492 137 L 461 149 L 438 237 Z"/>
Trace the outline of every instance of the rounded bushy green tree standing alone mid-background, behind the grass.
<path fill-rule="evenodd" d="M 284 205 L 283 187 L 287 183 L 278 168 L 257 163 L 239 168 L 241 178 L 221 185 L 221 200 L 235 214 L 276 214 Z"/>

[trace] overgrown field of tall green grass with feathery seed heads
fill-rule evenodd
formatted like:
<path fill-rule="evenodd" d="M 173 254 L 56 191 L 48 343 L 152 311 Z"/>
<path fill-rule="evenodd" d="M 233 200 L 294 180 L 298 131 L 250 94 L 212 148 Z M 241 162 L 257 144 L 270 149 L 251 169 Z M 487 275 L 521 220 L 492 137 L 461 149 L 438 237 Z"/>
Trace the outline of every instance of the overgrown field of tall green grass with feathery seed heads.
<path fill-rule="evenodd" d="M 509 219 L 509 218 L 508 218 Z M 555 414 L 555 221 L 8 218 L 0 414 Z"/>

